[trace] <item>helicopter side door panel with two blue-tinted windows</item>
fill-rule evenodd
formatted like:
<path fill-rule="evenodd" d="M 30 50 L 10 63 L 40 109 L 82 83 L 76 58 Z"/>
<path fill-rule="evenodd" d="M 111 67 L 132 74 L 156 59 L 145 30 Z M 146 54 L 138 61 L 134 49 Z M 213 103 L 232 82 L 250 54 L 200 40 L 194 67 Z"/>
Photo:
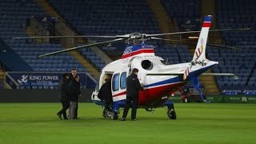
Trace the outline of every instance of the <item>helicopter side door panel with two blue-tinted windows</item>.
<path fill-rule="evenodd" d="M 126 99 L 127 70 L 115 72 L 112 77 L 113 102 Z"/>

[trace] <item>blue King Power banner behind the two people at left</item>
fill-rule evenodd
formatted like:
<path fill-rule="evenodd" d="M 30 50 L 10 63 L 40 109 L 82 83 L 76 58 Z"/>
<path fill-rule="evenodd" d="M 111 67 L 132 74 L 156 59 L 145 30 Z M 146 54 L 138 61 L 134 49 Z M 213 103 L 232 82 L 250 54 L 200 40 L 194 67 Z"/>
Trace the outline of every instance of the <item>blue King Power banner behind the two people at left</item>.
<path fill-rule="evenodd" d="M 6 84 L 12 89 L 58 89 L 63 73 L 7 72 Z M 78 73 L 81 88 L 94 89 L 96 81 L 86 73 Z"/>

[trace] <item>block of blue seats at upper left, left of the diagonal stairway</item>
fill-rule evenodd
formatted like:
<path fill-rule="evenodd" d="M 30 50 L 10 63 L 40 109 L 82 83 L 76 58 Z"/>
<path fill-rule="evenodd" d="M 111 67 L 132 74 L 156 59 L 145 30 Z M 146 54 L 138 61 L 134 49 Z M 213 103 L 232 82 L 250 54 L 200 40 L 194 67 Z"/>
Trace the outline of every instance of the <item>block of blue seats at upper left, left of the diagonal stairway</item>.
<path fill-rule="evenodd" d="M 2 15 L 0 38 L 19 54 L 34 71 L 66 71 L 77 67 L 78 71 L 86 69 L 69 53 L 54 57 L 37 58 L 38 54 L 45 54 L 54 50 L 62 50 L 59 44 L 34 44 L 25 40 L 12 40 L 14 37 L 26 36 L 26 19 L 31 16 L 46 16 L 46 13 L 33 0 L 2 0 L 0 14 Z"/>

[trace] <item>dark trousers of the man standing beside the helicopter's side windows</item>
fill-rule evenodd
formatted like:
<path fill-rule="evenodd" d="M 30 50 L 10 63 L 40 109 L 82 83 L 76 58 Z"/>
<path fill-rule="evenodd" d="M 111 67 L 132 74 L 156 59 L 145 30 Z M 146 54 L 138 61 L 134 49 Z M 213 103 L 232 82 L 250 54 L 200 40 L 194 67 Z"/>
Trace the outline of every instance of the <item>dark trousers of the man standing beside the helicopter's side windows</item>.
<path fill-rule="evenodd" d="M 138 97 L 128 97 L 128 98 L 126 98 L 126 106 L 125 106 L 125 109 L 123 110 L 122 118 L 126 118 L 130 106 L 132 107 L 131 119 L 135 119 L 136 118 L 136 113 L 137 113 L 137 106 L 138 106 Z"/>

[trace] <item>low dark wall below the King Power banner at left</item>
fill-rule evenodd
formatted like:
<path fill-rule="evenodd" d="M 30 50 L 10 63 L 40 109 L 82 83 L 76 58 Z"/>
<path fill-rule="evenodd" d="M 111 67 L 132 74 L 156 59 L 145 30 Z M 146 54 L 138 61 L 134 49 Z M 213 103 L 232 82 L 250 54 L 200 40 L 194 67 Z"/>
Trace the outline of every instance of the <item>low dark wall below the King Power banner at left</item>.
<path fill-rule="evenodd" d="M 94 90 L 81 90 L 79 102 L 90 102 Z M 0 102 L 59 102 L 58 90 L 0 90 Z"/>

